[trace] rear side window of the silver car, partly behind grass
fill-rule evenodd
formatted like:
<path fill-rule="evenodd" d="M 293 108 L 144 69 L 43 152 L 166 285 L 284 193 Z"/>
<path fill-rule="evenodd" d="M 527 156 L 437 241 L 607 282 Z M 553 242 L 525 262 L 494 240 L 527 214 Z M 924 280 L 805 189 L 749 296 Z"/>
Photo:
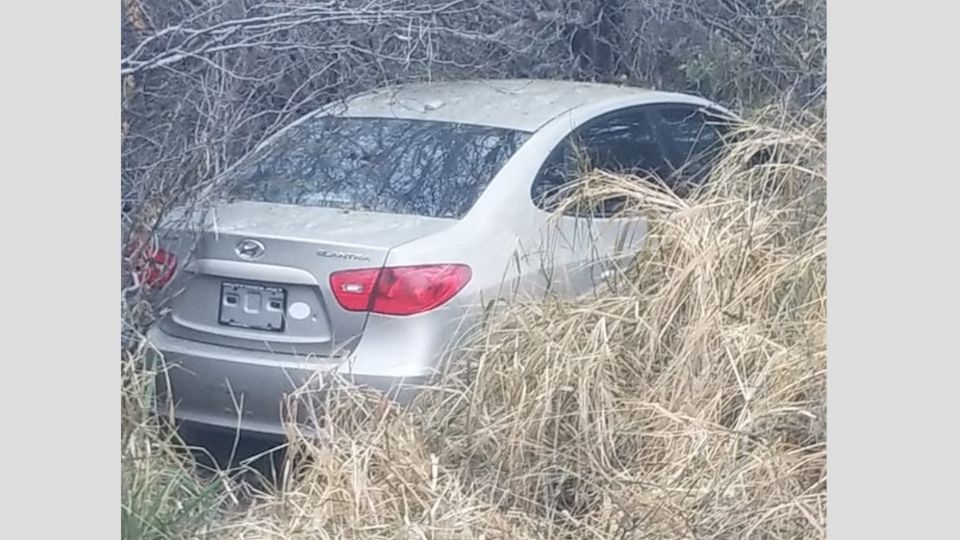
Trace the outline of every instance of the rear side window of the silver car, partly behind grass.
<path fill-rule="evenodd" d="M 531 188 L 534 203 L 556 209 L 583 172 L 597 169 L 662 178 L 673 172 L 647 114 L 642 109 L 616 112 L 585 124 L 553 150 Z M 587 213 L 607 215 L 618 206 L 617 200 L 604 201 Z"/>

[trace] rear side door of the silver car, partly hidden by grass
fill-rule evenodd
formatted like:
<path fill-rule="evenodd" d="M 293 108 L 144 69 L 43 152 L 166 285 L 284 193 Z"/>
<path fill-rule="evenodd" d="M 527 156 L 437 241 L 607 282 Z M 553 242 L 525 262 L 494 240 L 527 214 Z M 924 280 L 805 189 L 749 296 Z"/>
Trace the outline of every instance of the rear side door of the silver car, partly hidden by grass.
<path fill-rule="evenodd" d="M 642 106 L 595 118 L 554 148 L 531 187 L 534 204 L 553 213 L 541 234 L 551 289 L 574 295 L 590 291 L 639 251 L 646 234 L 641 218 L 616 213 L 617 198 L 559 211 L 582 185 L 583 173 L 665 176 L 672 172 L 666 151 Z"/>

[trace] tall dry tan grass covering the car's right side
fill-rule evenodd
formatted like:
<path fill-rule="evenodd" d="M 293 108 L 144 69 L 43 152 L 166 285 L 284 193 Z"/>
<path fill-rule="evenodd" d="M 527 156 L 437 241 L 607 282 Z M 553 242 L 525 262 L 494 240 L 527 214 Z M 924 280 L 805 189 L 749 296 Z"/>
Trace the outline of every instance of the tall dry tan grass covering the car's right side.
<path fill-rule="evenodd" d="M 687 199 L 595 175 L 649 218 L 627 279 L 497 315 L 411 410 L 334 391 L 324 440 L 207 534 L 824 537 L 824 126 L 762 125 Z"/>

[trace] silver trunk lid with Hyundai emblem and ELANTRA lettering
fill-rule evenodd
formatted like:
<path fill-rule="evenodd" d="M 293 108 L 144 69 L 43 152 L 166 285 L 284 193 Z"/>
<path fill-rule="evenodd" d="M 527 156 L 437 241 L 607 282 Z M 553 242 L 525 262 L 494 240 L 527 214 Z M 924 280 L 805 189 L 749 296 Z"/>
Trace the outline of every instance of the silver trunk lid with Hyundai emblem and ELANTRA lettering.
<path fill-rule="evenodd" d="M 196 233 L 161 328 L 223 346 L 342 355 L 355 346 L 367 313 L 340 307 L 330 274 L 380 268 L 391 248 L 453 223 L 259 202 L 217 206 Z"/>

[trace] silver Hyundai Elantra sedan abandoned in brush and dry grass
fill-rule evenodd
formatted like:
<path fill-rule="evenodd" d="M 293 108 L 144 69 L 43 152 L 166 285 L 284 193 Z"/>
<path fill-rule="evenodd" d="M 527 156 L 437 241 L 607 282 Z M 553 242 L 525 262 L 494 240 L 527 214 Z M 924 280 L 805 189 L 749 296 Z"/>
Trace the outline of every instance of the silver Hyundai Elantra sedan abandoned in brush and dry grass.
<path fill-rule="evenodd" d="M 555 211 L 584 156 L 701 182 L 731 118 L 692 95 L 550 80 L 410 83 L 305 115 L 199 221 L 172 212 L 137 267 L 165 294 L 147 332 L 161 410 L 281 435 L 285 396 L 334 372 L 409 401 L 491 304 L 586 294 L 642 247 L 639 217 Z"/>

